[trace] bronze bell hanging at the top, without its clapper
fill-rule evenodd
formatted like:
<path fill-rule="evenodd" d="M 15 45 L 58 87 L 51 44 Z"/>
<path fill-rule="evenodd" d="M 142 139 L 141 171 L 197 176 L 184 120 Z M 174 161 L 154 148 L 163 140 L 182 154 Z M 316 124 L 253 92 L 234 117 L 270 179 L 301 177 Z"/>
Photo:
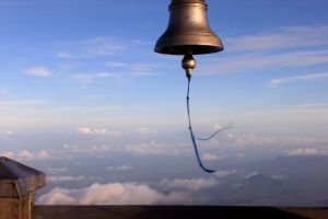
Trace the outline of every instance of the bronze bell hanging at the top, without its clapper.
<path fill-rule="evenodd" d="M 209 26 L 207 10 L 204 0 L 172 0 L 167 30 L 154 50 L 189 56 L 223 50 L 221 39 Z"/>

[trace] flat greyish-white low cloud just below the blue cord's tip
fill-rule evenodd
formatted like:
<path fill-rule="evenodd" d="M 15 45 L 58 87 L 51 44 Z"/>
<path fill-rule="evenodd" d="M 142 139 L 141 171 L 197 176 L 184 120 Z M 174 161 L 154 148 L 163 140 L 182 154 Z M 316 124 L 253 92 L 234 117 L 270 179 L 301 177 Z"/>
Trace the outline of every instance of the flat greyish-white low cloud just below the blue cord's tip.
<path fill-rule="evenodd" d="M 175 178 L 173 181 L 163 180 L 160 187 L 165 191 L 201 191 L 216 186 L 215 178 Z"/>

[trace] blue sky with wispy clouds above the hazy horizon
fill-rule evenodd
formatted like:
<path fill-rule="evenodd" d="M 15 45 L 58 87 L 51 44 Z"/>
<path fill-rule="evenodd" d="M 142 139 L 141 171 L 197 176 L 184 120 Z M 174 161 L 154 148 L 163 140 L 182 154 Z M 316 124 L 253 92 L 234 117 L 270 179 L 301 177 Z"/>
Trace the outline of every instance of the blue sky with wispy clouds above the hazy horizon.
<path fill-rule="evenodd" d="M 208 3 L 225 51 L 197 57 L 195 119 L 326 108 L 325 1 Z M 184 125 L 180 57 L 153 53 L 168 2 L 127 4 L 1 1 L 1 129 Z"/>

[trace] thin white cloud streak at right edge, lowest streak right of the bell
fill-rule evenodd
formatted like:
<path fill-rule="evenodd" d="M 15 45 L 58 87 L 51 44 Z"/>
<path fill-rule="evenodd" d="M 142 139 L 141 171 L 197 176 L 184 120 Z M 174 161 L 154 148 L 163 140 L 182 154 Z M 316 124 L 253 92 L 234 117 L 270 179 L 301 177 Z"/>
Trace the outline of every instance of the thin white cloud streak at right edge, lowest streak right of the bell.
<path fill-rule="evenodd" d="M 296 81 L 319 80 L 319 79 L 328 79 L 328 72 L 298 74 L 298 76 L 285 77 L 285 78 L 280 78 L 280 79 L 272 79 L 267 83 L 267 85 L 270 88 L 276 88 L 283 83 L 292 83 L 292 82 L 296 82 Z"/>

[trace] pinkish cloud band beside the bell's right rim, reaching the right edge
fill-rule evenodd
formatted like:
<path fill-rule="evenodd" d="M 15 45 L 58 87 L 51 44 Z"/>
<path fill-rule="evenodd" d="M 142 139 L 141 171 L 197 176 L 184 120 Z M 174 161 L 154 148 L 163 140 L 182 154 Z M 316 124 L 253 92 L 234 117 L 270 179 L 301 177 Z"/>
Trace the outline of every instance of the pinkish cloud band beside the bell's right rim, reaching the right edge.
<path fill-rule="evenodd" d="M 328 26 L 290 26 L 271 33 L 227 37 L 226 50 L 259 51 L 328 45 Z"/>

